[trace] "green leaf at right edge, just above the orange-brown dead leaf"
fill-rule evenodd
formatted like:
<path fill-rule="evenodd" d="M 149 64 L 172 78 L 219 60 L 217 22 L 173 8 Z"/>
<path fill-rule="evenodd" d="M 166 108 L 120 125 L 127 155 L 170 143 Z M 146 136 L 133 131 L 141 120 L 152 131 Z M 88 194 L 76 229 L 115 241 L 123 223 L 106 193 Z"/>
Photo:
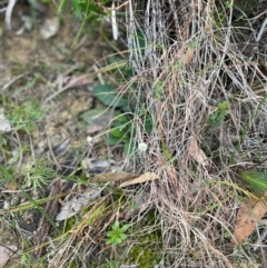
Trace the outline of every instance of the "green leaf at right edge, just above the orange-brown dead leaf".
<path fill-rule="evenodd" d="M 248 186 L 248 189 L 261 198 L 267 192 L 267 173 L 256 171 L 239 171 L 240 179 Z"/>

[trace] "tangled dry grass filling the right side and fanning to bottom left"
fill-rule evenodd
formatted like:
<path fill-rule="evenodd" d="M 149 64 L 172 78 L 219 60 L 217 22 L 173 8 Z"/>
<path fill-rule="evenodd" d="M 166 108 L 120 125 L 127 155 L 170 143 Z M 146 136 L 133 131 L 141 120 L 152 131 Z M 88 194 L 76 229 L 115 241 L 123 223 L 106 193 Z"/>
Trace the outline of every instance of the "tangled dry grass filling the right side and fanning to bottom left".
<path fill-rule="evenodd" d="M 47 242 L 47 255 L 38 262 L 103 268 L 266 265 L 264 250 L 256 260 L 249 245 L 247 255 L 230 245 L 243 195 L 235 171 L 266 158 L 263 16 L 259 22 L 246 18 L 238 24 L 233 18 L 241 11 L 226 4 L 129 0 L 127 41 L 136 77 L 118 87 L 127 91 L 137 85 L 130 92 L 136 103 L 132 139 L 146 142 L 148 150 L 127 158 L 125 167 L 160 179 L 121 192 L 103 183 L 101 197 L 76 222 L 60 225 L 63 234 Z M 224 101 L 227 107 L 219 110 Z M 214 117 L 224 112 L 222 119 Z M 141 113 L 151 118 L 151 133 L 144 131 Z M 85 188 L 93 187 L 99 186 Z M 137 210 L 130 209 L 132 200 Z M 107 245 L 107 231 L 120 217 L 121 225 L 131 227 L 128 239 Z"/>

